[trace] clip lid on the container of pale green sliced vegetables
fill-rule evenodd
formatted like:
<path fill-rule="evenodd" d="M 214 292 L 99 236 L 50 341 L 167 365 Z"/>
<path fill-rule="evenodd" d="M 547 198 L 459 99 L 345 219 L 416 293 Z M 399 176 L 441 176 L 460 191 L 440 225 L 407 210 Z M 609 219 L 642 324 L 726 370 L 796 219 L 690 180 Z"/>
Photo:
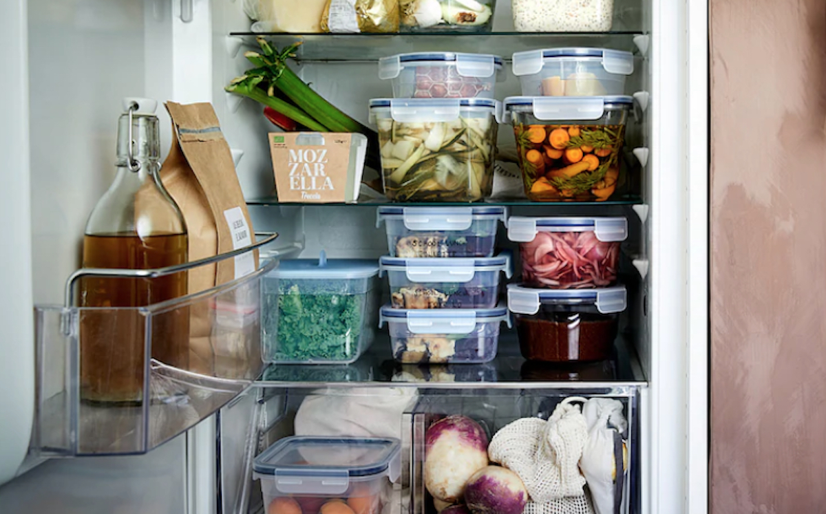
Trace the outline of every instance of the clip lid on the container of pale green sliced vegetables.
<path fill-rule="evenodd" d="M 491 98 L 374 98 L 370 121 L 390 117 L 406 123 L 453 121 L 462 114 L 492 114 L 501 119 L 502 104 Z M 381 115 L 381 116 L 377 116 Z"/>

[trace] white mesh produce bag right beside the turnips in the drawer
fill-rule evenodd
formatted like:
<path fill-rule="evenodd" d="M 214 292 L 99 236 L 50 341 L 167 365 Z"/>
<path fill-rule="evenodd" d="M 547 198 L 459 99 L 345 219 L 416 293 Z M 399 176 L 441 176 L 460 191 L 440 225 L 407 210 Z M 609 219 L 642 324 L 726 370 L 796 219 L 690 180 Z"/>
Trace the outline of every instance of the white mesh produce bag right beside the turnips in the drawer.
<path fill-rule="evenodd" d="M 504 426 L 491 440 L 487 449 L 491 460 L 518 474 L 536 503 L 584 497 L 586 482 L 579 472 L 579 459 L 587 427 L 580 407 L 572 402 L 585 401 L 566 398 L 548 421 L 522 418 Z"/>

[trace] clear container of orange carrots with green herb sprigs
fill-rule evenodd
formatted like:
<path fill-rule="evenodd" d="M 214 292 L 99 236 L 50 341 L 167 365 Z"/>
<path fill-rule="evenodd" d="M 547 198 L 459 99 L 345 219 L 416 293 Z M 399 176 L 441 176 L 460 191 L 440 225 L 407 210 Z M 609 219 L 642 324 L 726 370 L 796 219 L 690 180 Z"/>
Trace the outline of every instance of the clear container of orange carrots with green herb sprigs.
<path fill-rule="evenodd" d="M 519 107 L 519 106 L 517 106 Z M 623 182 L 619 154 L 629 105 L 593 121 L 542 121 L 510 107 L 525 193 L 534 202 L 604 202 Z"/>

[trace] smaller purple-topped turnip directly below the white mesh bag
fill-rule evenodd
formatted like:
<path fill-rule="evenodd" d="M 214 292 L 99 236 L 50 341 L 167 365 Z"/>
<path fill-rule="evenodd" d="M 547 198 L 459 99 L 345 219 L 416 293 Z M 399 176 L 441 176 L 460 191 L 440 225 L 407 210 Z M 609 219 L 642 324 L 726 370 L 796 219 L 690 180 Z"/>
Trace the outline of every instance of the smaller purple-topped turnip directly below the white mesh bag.
<path fill-rule="evenodd" d="M 464 498 L 473 514 L 522 514 L 528 491 L 510 469 L 486 466 L 468 480 Z"/>

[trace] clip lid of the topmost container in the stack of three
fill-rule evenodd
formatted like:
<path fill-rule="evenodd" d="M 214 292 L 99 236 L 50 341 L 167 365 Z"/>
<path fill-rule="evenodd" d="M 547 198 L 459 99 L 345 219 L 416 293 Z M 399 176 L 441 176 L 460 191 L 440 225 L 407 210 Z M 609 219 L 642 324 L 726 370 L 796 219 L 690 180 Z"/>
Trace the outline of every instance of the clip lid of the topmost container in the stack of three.
<path fill-rule="evenodd" d="M 465 231 L 474 220 L 505 221 L 505 207 L 378 207 L 376 226 L 401 219 L 409 231 Z"/>

